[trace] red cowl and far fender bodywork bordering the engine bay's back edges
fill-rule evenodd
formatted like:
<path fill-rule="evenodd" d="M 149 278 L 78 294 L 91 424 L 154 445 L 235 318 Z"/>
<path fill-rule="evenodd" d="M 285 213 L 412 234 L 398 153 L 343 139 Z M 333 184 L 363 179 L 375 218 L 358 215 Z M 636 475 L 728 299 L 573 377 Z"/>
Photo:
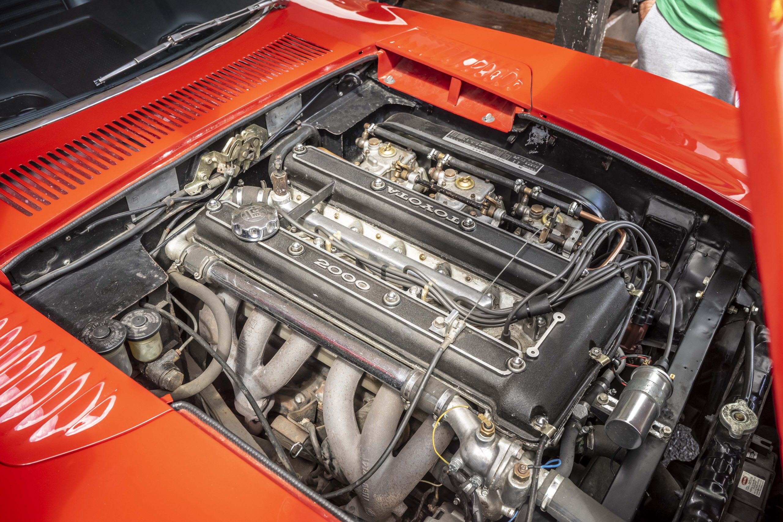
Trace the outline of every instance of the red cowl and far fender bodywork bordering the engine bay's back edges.
<path fill-rule="evenodd" d="M 0 142 L 0 172 L 10 173 L 15 178 L 13 171 L 20 175 L 26 174 L 27 171 L 20 167 L 23 165 L 67 192 L 60 193 L 34 175 L 27 179 L 16 177 L 16 182 L 25 185 L 25 189 L 39 193 L 49 201 L 49 204 L 45 204 L 35 200 L 18 185 L 9 187 L 8 183 L 5 184 L 41 207 L 41 211 L 33 211 L 33 216 L 24 216 L 0 203 L 0 222 L 15 223 L 13 227 L 0 229 L 0 265 L 48 236 L 63 222 L 84 214 L 143 175 L 196 149 L 200 143 L 228 128 L 237 119 L 246 117 L 329 70 L 358 59 L 360 53 L 377 52 L 377 42 L 380 42 L 378 45 L 390 47 L 391 41 L 397 41 L 393 38 L 395 35 L 406 33 L 413 27 L 421 27 L 424 34 L 435 35 L 431 38 L 455 42 L 454 45 L 459 49 L 473 52 L 474 59 L 500 63 L 505 69 L 516 67 L 515 70 L 523 71 L 529 67 L 533 71 L 530 94 L 525 89 L 513 88 L 503 92 L 497 85 L 493 87 L 491 82 L 482 83 L 475 78 L 472 81 L 479 86 L 483 85 L 484 89 L 489 85 L 503 99 L 523 108 L 529 105 L 532 98 L 534 115 L 578 131 L 669 175 L 716 200 L 742 218 L 748 217 L 748 189 L 742 173 L 744 160 L 739 150 L 737 110 L 725 103 L 630 67 L 512 34 L 362 0 L 301 0 L 292 3 L 287 9 L 272 13 L 251 31 L 200 59 L 67 119 Z M 319 48 L 330 49 L 331 52 L 308 60 L 305 64 L 290 67 L 284 74 L 276 70 L 277 75 L 269 71 L 269 77 L 265 78 L 251 76 L 251 69 L 245 64 L 258 61 L 254 61 L 251 55 L 286 34 L 306 37 L 307 41 Z M 486 52 L 483 49 L 494 51 Z M 407 49 L 398 49 L 398 52 L 413 56 L 416 50 L 413 45 L 408 45 Z M 419 49 L 418 54 L 425 53 Z M 439 63 L 436 63 L 436 56 L 420 59 L 426 60 L 428 67 L 453 71 L 453 74 L 463 77 L 470 84 L 471 70 L 456 70 L 449 56 L 442 57 Z M 384 63 L 384 59 L 381 59 L 381 66 Z M 241 74 L 237 70 L 242 71 Z M 230 81 L 227 79 L 229 77 Z M 260 83 L 252 85 L 251 81 L 255 82 L 255 78 Z M 202 80 L 219 82 L 219 86 L 200 87 L 206 85 Z M 194 92 L 188 85 L 198 87 L 202 93 L 188 99 L 190 92 Z M 413 94 L 419 94 L 422 98 L 431 95 L 418 91 Z M 442 96 L 443 103 L 448 103 L 446 95 L 444 93 Z M 467 106 L 467 103 L 458 103 L 451 106 L 450 110 L 475 119 L 478 113 L 476 110 L 466 112 L 464 107 Z M 144 117 L 135 113 L 137 110 L 143 111 Z M 153 112 L 150 113 L 150 110 Z M 162 115 L 161 111 L 164 111 Z M 123 122 L 121 118 L 127 118 L 128 113 L 135 114 L 145 122 L 141 124 L 133 120 L 144 128 L 139 131 L 139 135 L 145 139 L 123 131 L 128 138 L 132 137 L 146 145 L 136 146 L 124 139 L 139 152 L 116 142 L 110 146 L 90 134 L 99 134 L 100 129 L 106 130 L 107 124 L 117 129 L 112 122 Z M 153 125 L 154 129 L 147 124 Z M 157 138 L 150 133 L 154 133 Z M 82 136 L 91 139 L 96 146 L 85 144 Z M 94 152 L 81 148 L 74 140 L 82 146 L 88 145 Z M 107 140 L 112 141 L 109 138 Z M 63 149 L 66 145 L 74 147 L 78 152 Z M 106 150 L 100 149 L 98 145 Z M 114 148 L 114 145 L 121 150 Z M 74 160 L 67 161 L 72 163 L 70 167 L 63 164 L 53 167 L 60 167 L 74 178 L 81 178 L 84 183 L 67 178 L 62 172 L 51 172 L 51 175 L 58 175 L 75 189 L 30 164 L 31 160 L 40 164 L 38 158 L 48 157 L 49 153 L 59 154 L 57 149 L 68 150 Z M 127 156 L 126 153 L 132 154 Z M 84 175 L 74 170 L 77 168 L 92 176 L 92 179 L 85 180 Z M 56 169 L 49 169 L 52 170 Z M 41 193 L 41 189 L 48 190 L 59 199 Z M 0 195 L 16 200 L 16 196 L 2 188 Z M 33 210 L 25 203 L 20 206 Z"/>

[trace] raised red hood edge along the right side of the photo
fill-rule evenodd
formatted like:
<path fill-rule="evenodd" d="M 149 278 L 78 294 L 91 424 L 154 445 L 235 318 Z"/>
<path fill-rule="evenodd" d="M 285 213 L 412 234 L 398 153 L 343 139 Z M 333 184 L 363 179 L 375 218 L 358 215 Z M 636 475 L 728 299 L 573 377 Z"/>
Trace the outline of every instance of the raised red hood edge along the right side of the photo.
<path fill-rule="evenodd" d="M 774 368 L 783 368 L 783 6 L 770 0 L 721 0 L 742 120 L 752 192 L 753 242 L 771 333 Z M 783 379 L 772 380 L 778 430 L 783 430 Z"/>

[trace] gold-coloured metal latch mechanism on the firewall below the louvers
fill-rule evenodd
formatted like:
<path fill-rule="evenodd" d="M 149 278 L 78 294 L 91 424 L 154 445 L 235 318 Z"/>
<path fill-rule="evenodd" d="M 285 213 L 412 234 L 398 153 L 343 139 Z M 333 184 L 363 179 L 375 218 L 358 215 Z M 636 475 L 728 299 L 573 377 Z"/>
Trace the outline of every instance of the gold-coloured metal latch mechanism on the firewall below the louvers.
<path fill-rule="evenodd" d="M 258 160 L 261 146 L 267 139 L 269 133 L 265 128 L 248 125 L 244 131 L 229 138 L 221 152 L 212 150 L 200 158 L 196 175 L 185 185 L 185 192 L 190 196 L 200 193 L 204 185 L 209 185 L 209 178 L 215 171 L 229 178 L 247 171 L 253 161 Z"/>

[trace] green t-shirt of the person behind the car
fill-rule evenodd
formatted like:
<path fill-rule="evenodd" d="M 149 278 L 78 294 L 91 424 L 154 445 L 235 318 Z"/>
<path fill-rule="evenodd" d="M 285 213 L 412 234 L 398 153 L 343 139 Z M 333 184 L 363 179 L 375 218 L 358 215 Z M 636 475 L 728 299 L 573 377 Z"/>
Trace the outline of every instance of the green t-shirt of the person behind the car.
<path fill-rule="evenodd" d="M 728 56 L 715 0 L 657 0 L 655 5 L 674 31 L 705 49 Z"/>

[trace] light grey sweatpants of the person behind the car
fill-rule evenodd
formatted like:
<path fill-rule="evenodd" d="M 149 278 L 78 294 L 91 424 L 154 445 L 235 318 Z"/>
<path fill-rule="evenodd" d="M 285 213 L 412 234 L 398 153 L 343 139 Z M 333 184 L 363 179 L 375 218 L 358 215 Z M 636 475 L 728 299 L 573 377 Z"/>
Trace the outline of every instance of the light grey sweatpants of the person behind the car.
<path fill-rule="evenodd" d="M 636 38 L 641 70 L 695 88 L 734 104 L 734 81 L 725 56 L 709 51 L 674 31 L 653 6 Z"/>

